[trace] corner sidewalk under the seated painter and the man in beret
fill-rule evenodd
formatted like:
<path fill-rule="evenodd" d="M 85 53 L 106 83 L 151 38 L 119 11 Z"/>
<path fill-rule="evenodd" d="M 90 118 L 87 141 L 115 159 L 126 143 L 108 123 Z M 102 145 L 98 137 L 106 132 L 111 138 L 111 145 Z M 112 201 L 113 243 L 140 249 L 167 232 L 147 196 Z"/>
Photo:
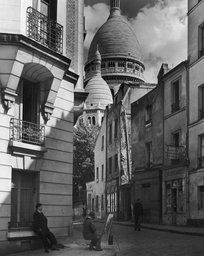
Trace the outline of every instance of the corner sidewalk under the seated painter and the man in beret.
<path fill-rule="evenodd" d="M 101 248 L 103 251 L 89 251 L 86 247 L 85 240 L 81 232 L 75 231 L 73 237 L 69 238 L 69 242 L 64 244 L 69 248 L 60 249 L 60 251 L 49 250 L 50 253 L 45 253 L 44 248 L 38 250 L 31 250 L 24 253 L 9 254 L 9 256 L 116 256 L 114 246 L 108 245 L 106 250 L 106 244 L 101 242 Z"/>

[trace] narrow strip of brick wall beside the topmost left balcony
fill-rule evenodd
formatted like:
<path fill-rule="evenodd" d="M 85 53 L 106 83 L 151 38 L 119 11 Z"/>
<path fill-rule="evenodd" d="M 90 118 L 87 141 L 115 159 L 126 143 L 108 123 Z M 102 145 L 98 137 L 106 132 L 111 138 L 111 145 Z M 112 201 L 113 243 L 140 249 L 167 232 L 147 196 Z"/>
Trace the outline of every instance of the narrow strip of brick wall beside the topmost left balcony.
<path fill-rule="evenodd" d="M 66 56 L 74 69 L 75 0 L 66 0 Z"/>

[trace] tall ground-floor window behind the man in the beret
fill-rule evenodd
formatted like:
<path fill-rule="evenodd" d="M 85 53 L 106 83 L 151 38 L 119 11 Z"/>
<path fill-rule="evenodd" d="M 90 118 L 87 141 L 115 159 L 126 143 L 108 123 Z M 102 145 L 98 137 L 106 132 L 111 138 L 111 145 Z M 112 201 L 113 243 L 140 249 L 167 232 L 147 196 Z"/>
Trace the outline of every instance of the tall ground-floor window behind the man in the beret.
<path fill-rule="evenodd" d="M 12 227 L 31 227 L 33 209 L 37 202 L 38 174 L 12 171 L 11 182 Z"/>

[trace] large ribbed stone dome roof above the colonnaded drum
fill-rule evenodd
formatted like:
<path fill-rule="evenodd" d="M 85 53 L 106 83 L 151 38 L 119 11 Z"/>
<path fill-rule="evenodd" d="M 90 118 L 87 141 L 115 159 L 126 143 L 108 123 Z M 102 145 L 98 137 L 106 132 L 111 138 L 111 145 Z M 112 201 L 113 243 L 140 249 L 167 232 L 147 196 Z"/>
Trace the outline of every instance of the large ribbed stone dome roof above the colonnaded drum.
<path fill-rule="evenodd" d="M 131 55 L 141 61 L 141 48 L 132 29 L 120 16 L 120 10 L 112 8 L 107 22 L 96 32 L 88 52 L 88 61 L 94 59 L 97 44 L 100 55 Z"/>

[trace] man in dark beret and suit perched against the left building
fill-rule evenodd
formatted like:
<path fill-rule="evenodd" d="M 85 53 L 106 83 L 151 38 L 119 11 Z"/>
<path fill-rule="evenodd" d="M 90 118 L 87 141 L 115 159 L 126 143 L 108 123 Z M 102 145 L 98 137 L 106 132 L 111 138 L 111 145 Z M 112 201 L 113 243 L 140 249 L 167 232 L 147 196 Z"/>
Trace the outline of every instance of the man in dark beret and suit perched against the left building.
<path fill-rule="evenodd" d="M 33 214 L 33 218 L 34 218 L 33 230 L 36 234 L 38 234 L 39 237 L 41 237 L 42 242 L 44 244 L 45 252 L 49 253 L 49 250 L 48 250 L 49 243 L 47 238 L 50 240 L 51 250 L 59 251 L 60 249 L 56 247 L 57 240 L 54 234 L 47 228 L 47 218 L 42 213 L 42 209 L 43 209 L 42 204 L 38 203 L 37 205 L 35 205 L 35 208 L 36 208 L 36 212 L 34 212 Z"/>

